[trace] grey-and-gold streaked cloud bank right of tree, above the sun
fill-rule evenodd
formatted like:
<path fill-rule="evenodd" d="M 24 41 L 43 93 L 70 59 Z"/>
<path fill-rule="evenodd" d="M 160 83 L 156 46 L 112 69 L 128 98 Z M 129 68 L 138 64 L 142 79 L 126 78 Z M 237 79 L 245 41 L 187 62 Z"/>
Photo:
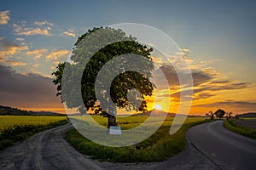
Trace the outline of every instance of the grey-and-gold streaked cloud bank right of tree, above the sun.
<path fill-rule="evenodd" d="M 160 71 L 165 77 L 159 74 Z M 213 96 L 218 95 L 218 93 L 221 91 L 239 90 L 249 88 L 251 86 L 251 83 L 249 82 L 238 82 L 228 79 L 220 80 L 218 72 L 209 71 L 208 69 L 194 70 L 191 72 L 191 76 L 193 78 L 194 87 L 193 99 L 209 99 Z M 191 99 L 192 96 L 190 94 L 192 89 L 186 86 L 187 84 L 189 84 L 189 82 L 185 82 L 187 84 L 183 84 L 183 86 L 181 86 L 179 78 L 177 76 L 177 72 L 172 65 L 161 66 L 159 71 L 154 72 L 153 77 L 154 82 L 158 82 L 160 86 L 166 81 L 168 82 L 172 101 L 179 101 L 181 91 L 183 91 L 184 93 L 184 100 Z M 182 77 L 184 80 L 187 80 L 186 77 L 189 77 L 189 74 L 183 72 Z M 166 79 L 166 81 L 164 79 Z M 159 91 L 161 89 L 163 88 L 157 87 L 156 90 Z M 160 95 L 160 97 L 169 97 L 168 95 L 169 94 L 162 94 Z"/>

